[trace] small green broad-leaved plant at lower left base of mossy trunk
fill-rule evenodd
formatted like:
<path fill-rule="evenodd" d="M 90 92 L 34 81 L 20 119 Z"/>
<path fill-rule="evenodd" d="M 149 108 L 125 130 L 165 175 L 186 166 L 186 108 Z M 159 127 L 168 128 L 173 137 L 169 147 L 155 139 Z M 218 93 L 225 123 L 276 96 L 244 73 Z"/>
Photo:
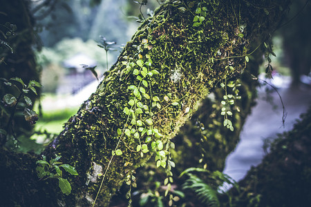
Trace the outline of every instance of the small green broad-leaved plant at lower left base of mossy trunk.
<path fill-rule="evenodd" d="M 58 161 L 62 156 L 57 155 L 55 159 L 50 159 L 50 161 L 46 161 L 46 156 L 42 155 L 42 159 L 38 160 L 36 164 L 38 165 L 37 175 L 39 179 L 58 179 L 59 180 L 59 188 L 62 190 L 62 193 L 65 195 L 69 195 L 71 193 L 71 185 L 67 179 L 63 178 L 63 171 L 61 168 L 66 170 L 66 172 L 70 173 L 70 175 L 78 175 L 77 171 L 73 166 L 68 164 L 62 164 L 62 162 Z"/>

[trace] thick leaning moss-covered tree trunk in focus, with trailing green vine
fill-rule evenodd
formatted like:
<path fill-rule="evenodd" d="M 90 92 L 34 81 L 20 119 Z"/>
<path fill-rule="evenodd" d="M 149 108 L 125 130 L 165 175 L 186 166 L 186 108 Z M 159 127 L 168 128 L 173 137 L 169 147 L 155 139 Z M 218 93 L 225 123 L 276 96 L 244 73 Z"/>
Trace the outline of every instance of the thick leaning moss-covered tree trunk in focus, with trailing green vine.
<path fill-rule="evenodd" d="M 99 191 L 95 206 L 108 206 L 127 176 L 153 152 L 160 154 L 162 166 L 169 165 L 170 142 L 180 126 L 211 90 L 241 75 L 245 56 L 252 52 L 249 44 L 264 41 L 286 8 L 283 0 L 164 3 L 43 152 L 48 160 L 62 155 L 59 161 L 77 169 L 79 176 L 64 173 L 71 194 L 63 195 L 53 179 L 37 179 L 37 156 L 20 159 L 1 150 L 1 173 L 8 177 L 1 176 L 6 184 L 1 196 L 10 198 L 6 204 L 91 206 Z M 194 19 L 202 23 L 193 26 Z M 148 152 L 137 148 L 144 144 Z M 26 180 L 17 179 L 25 173 Z M 17 185 L 19 193 L 9 190 Z"/>

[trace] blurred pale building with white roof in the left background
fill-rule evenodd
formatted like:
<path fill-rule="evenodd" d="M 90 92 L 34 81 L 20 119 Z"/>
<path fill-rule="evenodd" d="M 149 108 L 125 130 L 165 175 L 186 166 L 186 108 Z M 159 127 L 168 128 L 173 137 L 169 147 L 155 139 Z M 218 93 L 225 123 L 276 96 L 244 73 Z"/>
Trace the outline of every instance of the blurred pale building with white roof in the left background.
<path fill-rule="evenodd" d="M 97 62 L 82 53 L 66 59 L 63 66 L 67 71 L 59 84 L 59 88 L 57 88 L 58 94 L 75 94 L 96 79 L 92 72 L 86 70 L 85 67 L 93 68 L 97 66 Z"/>

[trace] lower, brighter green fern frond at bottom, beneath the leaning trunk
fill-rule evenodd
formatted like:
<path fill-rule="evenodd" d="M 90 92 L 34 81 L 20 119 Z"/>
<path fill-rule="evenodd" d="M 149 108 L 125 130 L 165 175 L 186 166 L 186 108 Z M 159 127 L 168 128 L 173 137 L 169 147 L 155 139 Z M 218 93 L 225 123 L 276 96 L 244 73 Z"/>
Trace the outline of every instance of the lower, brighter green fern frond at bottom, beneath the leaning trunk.
<path fill-rule="evenodd" d="M 196 195 L 198 195 L 198 199 L 200 199 L 200 201 L 202 201 L 202 203 L 207 206 L 220 206 L 220 202 L 217 197 L 218 193 L 216 190 L 214 190 L 208 184 L 205 184 L 205 181 L 196 177 L 195 175 L 192 175 L 190 173 L 188 173 L 188 175 L 189 179 L 187 179 L 185 181 L 185 184 L 183 184 L 183 189 L 194 190 Z"/>

